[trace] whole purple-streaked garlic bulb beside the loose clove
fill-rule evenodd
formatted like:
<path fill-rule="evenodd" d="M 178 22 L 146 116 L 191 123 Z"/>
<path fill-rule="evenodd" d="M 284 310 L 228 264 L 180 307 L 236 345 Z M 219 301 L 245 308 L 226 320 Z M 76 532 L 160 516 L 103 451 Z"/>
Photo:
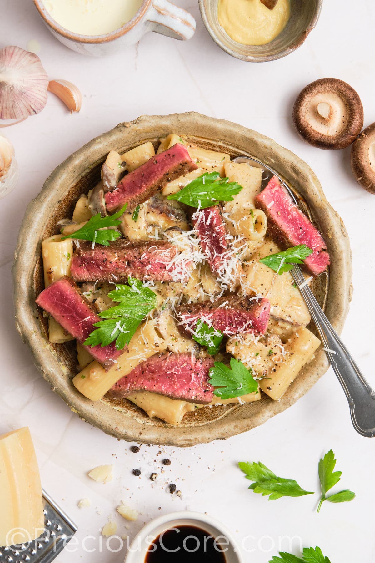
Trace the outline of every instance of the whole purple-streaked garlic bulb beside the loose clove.
<path fill-rule="evenodd" d="M 0 119 L 26 119 L 47 104 L 48 77 L 37 55 L 0 49 Z"/>

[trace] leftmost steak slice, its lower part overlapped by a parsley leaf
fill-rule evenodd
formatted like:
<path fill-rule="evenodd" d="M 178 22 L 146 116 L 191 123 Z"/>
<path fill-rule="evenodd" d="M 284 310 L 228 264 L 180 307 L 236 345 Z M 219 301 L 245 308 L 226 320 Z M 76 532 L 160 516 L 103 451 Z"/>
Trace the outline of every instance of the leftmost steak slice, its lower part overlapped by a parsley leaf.
<path fill-rule="evenodd" d="M 102 320 L 95 307 L 87 301 L 71 278 L 61 278 L 39 293 L 37 305 L 47 311 L 58 324 L 80 344 L 95 330 L 94 323 Z M 115 343 L 107 346 L 85 346 L 87 351 L 106 370 L 110 369 L 116 358 L 125 350 L 116 350 Z"/>

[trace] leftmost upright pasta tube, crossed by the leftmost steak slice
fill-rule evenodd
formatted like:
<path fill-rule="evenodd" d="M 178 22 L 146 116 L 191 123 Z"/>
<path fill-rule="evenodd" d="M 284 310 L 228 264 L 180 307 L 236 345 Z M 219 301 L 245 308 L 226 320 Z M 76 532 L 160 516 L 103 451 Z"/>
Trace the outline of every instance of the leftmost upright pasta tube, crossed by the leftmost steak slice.
<path fill-rule="evenodd" d="M 62 235 L 49 236 L 42 242 L 44 287 L 63 276 L 70 276 L 73 240 L 61 240 Z M 62 344 L 74 337 L 66 332 L 52 317 L 48 318 L 48 339 L 54 344 Z"/>

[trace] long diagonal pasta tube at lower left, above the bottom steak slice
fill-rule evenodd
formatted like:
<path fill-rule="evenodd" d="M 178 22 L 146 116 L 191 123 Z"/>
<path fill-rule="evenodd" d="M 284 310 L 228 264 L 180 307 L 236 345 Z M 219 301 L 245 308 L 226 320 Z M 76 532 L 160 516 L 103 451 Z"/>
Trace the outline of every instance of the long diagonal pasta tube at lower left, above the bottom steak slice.
<path fill-rule="evenodd" d="M 107 372 L 97 361 L 85 367 L 73 379 L 75 388 L 88 399 L 98 401 L 116 381 L 127 376 L 142 361 L 166 350 L 163 339 L 155 330 L 155 324 L 155 320 L 148 320 L 147 324 L 142 323 L 130 340 L 128 349 Z"/>

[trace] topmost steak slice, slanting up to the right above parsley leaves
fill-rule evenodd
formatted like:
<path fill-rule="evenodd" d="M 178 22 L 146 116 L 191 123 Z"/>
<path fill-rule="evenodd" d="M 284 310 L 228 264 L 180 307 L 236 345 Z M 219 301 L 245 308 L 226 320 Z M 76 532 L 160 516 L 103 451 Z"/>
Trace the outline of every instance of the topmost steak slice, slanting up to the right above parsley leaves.
<path fill-rule="evenodd" d="M 120 180 L 114 191 L 105 195 L 107 211 L 115 213 L 128 204 L 128 211 L 146 202 L 156 194 L 167 182 L 196 170 L 184 145 L 177 143 L 163 153 L 155 155 L 144 164 L 129 172 Z"/>

